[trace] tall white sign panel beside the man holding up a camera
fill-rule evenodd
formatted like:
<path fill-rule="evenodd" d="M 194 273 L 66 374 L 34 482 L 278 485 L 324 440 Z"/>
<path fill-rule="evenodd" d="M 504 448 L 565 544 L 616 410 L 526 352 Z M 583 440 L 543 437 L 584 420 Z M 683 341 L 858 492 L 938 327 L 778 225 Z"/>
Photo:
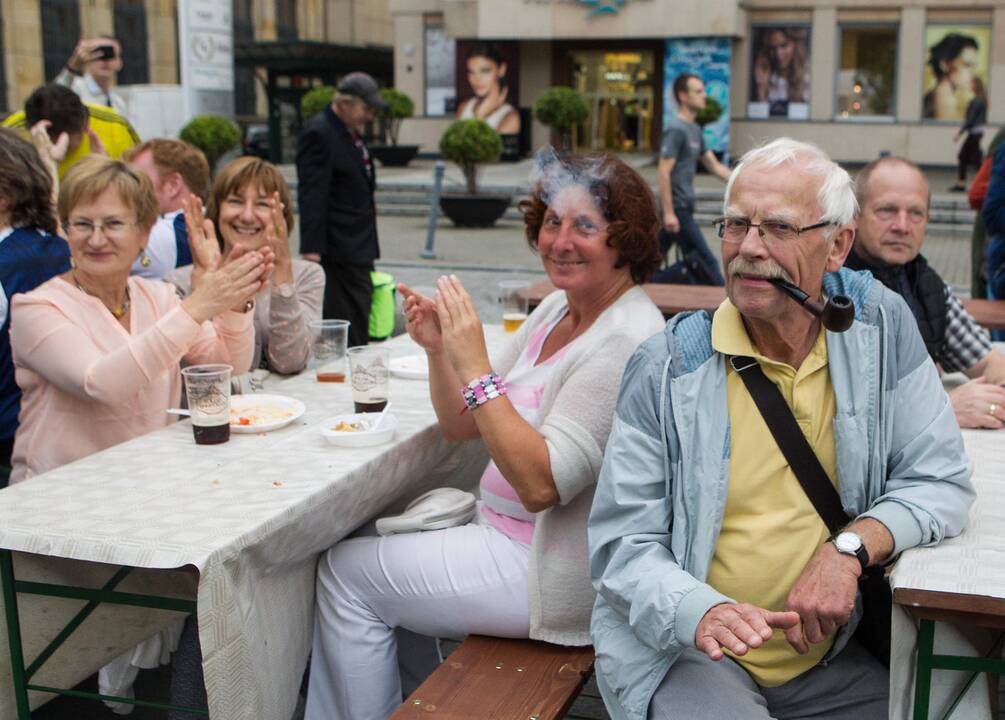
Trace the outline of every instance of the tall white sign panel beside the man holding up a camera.
<path fill-rule="evenodd" d="M 179 0 L 185 116 L 234 114 L 234 31 L 230 3 Z"/>

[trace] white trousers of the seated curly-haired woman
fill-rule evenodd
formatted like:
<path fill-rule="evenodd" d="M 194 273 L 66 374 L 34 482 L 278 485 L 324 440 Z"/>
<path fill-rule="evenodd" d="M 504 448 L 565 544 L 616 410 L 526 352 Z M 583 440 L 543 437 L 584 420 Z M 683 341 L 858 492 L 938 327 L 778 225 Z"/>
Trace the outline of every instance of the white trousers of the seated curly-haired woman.
<path fill-rule="evenodd" d="M 401 705 L 395 628 L 527 638 L 529 552 L 477 522 L 329 550 L 318 565 L 306 720 L 386 720 Z"/>

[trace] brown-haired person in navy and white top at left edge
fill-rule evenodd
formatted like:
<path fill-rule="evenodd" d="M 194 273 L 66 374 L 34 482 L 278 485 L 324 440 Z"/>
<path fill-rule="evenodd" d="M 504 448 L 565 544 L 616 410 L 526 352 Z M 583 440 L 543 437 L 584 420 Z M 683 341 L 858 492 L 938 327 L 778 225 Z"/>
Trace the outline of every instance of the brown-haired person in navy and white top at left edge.
<path fill-rule="evenodd" d="M 69 269 L 69 246 L 56 234 L 52 178 L 38 151 L 0 128 L 0 468 L 10 454 L 21 408 L 10 357 L 10 299 Z M 2 474 L 0 487 L 7 484 Z"/>

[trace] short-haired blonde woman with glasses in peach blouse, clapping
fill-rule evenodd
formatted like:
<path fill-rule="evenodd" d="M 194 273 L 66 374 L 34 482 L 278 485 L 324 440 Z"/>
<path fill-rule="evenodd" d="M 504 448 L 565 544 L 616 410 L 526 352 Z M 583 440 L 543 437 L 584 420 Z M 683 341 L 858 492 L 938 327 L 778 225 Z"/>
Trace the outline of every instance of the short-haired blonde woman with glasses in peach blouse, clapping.
<path fill-rule="evenodd" d="M 108 158 L 86 158 L 66 174 L 57 209 L 71 268 L 12 302 L 23 393 L 12 484 L 171 422 L 165 411 L 180 399 L 182 361 L 248 370 L 246 311 L 273 260 L 268 249 L 237 248 L 210 261 L 206 282 L 184 301 L 167 283 L 130 277 L 157 200 L 146 175 Z M 192 249 L 207 251 L 198 240 Z"/>

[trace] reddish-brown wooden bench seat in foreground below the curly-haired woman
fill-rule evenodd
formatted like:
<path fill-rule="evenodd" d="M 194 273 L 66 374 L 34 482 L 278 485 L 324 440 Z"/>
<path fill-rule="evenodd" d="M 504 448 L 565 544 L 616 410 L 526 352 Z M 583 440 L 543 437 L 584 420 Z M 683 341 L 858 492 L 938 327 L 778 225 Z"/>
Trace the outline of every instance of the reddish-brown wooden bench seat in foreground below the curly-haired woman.
<path fill-rule="evenodd" d="M 593 673 L 593 648 L 468 636 L 392 720 L 561 718 Z"/>

